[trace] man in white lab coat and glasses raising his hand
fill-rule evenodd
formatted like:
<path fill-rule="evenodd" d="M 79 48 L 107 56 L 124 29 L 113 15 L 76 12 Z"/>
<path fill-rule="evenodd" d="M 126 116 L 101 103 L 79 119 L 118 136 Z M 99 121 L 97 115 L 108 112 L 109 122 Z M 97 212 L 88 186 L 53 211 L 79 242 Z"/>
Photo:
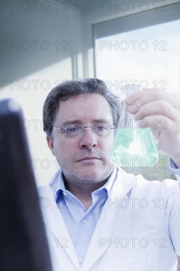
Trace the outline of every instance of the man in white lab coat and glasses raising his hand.
<path fill-rule="evenodd" d="M 146 119 L 161 149 L 180 167 L 176 95 L 145 90 L 126 100 Z M 60 165 L 40 188 L 54 270 L 176 270 L 180 255 L 179 186 L 147 181 L 109 161 L 120 119 L 118 99 L 98 79 L 67 81 L 43 107 L 47 143 Z M 166 121 L 154 129 L 152 121 Z"/>

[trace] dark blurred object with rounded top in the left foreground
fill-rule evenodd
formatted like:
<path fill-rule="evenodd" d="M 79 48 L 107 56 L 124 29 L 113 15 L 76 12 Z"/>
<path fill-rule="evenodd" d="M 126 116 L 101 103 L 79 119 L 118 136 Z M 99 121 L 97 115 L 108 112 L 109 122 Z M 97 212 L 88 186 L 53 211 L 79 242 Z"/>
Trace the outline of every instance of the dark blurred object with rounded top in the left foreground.
<path fill-rule="evenodd" d="M 0 102 L 0 270 L 49 271 L 51 261 L 21 106 Z"/>

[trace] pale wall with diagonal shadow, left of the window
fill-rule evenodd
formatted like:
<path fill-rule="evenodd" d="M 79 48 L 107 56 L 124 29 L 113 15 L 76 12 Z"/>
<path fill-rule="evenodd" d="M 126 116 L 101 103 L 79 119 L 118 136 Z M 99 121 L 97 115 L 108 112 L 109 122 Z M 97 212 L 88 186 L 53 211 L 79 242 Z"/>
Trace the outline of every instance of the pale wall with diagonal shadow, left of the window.
<path fill-rule="evenodd" d="M 58 169 L 42 129 L 42 104 L 62 80 L 83 77 L 80 11 L 66 1 L 59 7 L 57 1 L 39 1 L 36 9 L 31 1 L 30 6 L 7 2 L 9 6 L 1 6 L 0 97 L 15 98 L 23 107 L 31 163 L 37 185 L 42 185 Z M 18 2 L 24 5 L 14 6 Z"/>

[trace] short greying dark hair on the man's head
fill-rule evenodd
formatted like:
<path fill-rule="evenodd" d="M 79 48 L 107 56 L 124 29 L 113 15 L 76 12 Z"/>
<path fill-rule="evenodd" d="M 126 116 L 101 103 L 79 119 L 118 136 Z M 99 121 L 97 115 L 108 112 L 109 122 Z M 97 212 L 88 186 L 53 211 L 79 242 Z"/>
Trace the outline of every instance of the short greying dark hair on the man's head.
<path fill-rule="evenodd" d="M 48 136 L 52 134 L 52 127 L 59 110 L 60 102 L 67 101 L 81 94 L 100 94 L 109 103 L 114 125 L 118 126 L 120 120 L 120 102 L 105 82 L 99 79 L 81 79 L 62 82 L 53 88 L 43 104 L 43 129 Z"/>

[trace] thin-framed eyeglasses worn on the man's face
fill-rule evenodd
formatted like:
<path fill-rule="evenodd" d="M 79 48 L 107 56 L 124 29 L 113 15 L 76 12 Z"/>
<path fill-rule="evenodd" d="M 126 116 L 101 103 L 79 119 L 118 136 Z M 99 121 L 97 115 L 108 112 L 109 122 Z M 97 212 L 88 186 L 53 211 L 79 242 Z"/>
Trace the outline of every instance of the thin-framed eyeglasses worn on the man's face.
<path fill-rule="evenodd" d="M 106 125 L 93 125 L 93 126 L 79 126 L 79 125 L 72 125 L 66 128 L 57 128 L 52 127 L 54 129 L 62 131 L 63 135 L 66 137 L 80 137 L 85 134 L 85 128 L 91 128 L 91 132 L 98 136 L 106 136 L 111 129 L 116 129 L 116 127 L 108 128 Z"/>

